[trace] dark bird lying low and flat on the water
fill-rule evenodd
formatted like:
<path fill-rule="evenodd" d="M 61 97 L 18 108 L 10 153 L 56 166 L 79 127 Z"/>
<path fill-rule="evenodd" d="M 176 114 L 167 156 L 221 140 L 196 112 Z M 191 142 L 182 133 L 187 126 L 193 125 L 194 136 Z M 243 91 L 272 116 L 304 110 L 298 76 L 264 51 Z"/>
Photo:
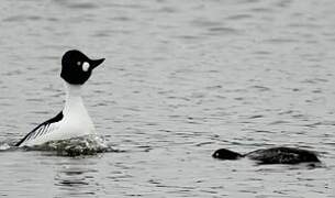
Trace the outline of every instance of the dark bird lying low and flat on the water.
<path fill-rule="evenodd" d="M 320 163 L 320 160 L 314 152 L 295 147 L 261 148 L 246 154 L 220 148 L 215 151 L 212 156 L 220 160 L 238 160 L 247 157 L 257 161 L 258 164 Z"/>

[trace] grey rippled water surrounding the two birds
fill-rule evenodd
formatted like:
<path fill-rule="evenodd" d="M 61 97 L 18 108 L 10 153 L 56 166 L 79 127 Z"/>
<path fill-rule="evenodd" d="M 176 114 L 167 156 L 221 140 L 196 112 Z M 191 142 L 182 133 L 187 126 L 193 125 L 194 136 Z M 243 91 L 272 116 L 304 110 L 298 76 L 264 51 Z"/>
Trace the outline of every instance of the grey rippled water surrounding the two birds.
<path fill-rule="evenodd" d="M 124 152 L 0 153 L 0 197 L 334 197 L 335 1 L 1 1 L 0 141 L 63 108 L 60 57 L 105 57 L 85 89 Z M 320 152 L 324 167 L 216 161 Z"/>

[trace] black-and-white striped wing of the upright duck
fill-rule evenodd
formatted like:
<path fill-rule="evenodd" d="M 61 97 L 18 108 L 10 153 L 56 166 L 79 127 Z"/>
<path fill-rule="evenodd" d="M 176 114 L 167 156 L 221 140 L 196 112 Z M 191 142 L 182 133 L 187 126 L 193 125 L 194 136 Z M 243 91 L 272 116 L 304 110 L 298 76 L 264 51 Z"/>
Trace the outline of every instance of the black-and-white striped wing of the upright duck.
<path fill-rule="evenodd" d="M 37 125 L 33 131 L 27 133 L 20 142 L 15 144 L 15 146 L 22 145 L 26 141 L 34 140 L 38 136 L 42 136 L 44 134 L 47 134 L 55 130 L 54 124 L 56 122 L 59 122 L 63 119 L 63 111 L 60 111 L 55 118 L 52 118 L 42 124 Z"/>

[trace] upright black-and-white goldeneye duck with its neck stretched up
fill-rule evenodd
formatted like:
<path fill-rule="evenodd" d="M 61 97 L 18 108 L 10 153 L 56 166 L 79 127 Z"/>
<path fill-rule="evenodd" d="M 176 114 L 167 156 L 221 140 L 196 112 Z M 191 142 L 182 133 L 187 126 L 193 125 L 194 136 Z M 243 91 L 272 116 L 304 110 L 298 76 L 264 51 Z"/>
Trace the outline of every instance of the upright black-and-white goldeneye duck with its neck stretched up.
<path fill-rule="evenodd" d="M 64 79 L 66 88 L 63 111 L 37 125 L 15 145 L 33 146 L 49 141 L 94 134 L 93 122 L 81 99 L 81 87 L 90 78 L 92 70 L 103 61 L 104 58 L 90 59 L 76 50 L 66 52 L 62 58 L 60 72 L 60 77 Z"/>

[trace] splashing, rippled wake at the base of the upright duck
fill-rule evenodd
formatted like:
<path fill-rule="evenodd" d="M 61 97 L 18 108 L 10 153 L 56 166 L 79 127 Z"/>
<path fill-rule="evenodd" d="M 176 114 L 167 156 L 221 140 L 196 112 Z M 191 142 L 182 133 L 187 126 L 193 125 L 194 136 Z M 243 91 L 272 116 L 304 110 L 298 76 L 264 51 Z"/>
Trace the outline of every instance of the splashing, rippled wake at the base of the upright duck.
<path fill-rule="evenodd" d="M 0 151 L 45 151 L 60 156 L 96 155 L 98 153 L 118 152 L 101 136 L 86 135 L 75 139 L 49 141 L 41 145 L 16 147 L 0 143 Z"/>

